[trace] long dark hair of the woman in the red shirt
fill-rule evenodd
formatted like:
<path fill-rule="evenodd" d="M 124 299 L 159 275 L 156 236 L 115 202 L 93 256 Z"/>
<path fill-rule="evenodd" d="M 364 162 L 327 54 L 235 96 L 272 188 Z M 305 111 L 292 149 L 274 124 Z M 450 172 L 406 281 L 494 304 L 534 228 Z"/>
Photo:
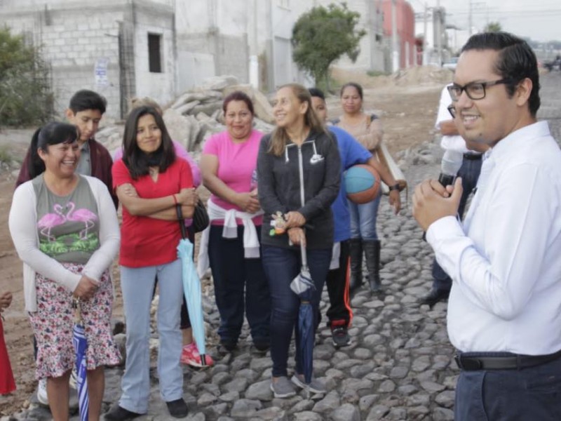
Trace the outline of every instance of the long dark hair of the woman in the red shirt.
<path fill-rule="evenodd" d="M 156 121 L 156 125 L 162 134 L 160 147 L 156 152 L 151 154 L 152 158 L 157 159 L 156 165 L 159 168 L 159 172 L 164 173 L 173 161 L 175 161 L 173 142 L 168 133 L 168 129 L 165 128 L 165 123 L 163 122 L 161 114 L 158 113 L 154 107 L 135 108 L 128 115 L 125 123 L 125 134 L 123 135 L 123 162 L 134 180 L 137 180 L 137 178 L 142 175 L 147 175 L 149 173 L 149 166 L 154 165 L 149 163 L 150 156 L 142 152 L 136 141 L 138 120 L 140 117 L 147 114 L 154 116 L 154 121 Z"/>

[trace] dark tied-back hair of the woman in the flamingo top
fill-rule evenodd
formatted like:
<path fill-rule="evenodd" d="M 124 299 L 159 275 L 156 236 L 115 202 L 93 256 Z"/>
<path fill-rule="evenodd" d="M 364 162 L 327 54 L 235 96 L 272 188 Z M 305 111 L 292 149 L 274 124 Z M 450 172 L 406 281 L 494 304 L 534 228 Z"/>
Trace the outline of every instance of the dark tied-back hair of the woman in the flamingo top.
<path fill-rule="evenodd" d="M 47 123 L 45 126 L 38 128 L 31 138 L 30 159 L 28 166 L 29 180 L 33 180 L 37 175 L 45 171 L 45 163 L 39 156 L 39 149 L 48 153 L 50 145 L 59 145 L 60 143 L 74 143 L 78 139 L 78 128 L 68 123 Z"/>

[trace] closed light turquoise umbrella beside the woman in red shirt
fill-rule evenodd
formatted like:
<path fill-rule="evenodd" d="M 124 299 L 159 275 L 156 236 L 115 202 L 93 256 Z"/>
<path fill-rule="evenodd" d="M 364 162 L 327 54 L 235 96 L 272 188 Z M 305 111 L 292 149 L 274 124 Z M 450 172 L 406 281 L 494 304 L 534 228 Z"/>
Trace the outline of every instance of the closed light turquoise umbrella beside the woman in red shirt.
<path fill-rule="evenodd" d="M 181 212 L 177 205 L 177 218 L 180 220 L 182 239 L 177 245 L 177 257 L 182 263 L 183 293 L 187 301 L 187 312 L 191 320 L 193 336 L 201 354 L 201 363 L 206 366 L 205 347 L 205 320 L 203 318 L 203 300 L 201 299 L 201 279 L 198 278 L 197 269 L 193 262 L 193 243 L 187 238 L 187 232 Z"/>

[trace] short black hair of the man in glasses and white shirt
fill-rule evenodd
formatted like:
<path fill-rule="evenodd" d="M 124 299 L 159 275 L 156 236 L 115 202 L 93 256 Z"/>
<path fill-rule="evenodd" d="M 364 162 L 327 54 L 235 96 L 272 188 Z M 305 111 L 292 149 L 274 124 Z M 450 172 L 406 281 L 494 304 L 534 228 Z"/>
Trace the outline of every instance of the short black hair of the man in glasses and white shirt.
<path fill-rule="evenodd" d="M 469 50 L 494 50 L 499 57 L 494 63 L 494 72 L 510 82 L 505 83 L 508 95 L 514 95 L 516 86 L 523 79 L 532 81 L 532 92 L 528 99 L 529 112 L 536 116 L 540 106 L 538 60 L 526 41 L 508 32 L 483 32 L 472 35 L 462 53 Z"/>

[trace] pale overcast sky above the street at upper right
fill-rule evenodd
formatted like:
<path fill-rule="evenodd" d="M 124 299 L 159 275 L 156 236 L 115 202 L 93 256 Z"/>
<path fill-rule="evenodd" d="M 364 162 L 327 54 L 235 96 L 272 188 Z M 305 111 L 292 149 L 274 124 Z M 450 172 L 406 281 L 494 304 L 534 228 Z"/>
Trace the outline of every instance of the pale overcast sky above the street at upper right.
<path fill-rule="evenodd" d="M 422 12 L 437 0 L 408 0 L 415 12 Z M 468 27 L 470 0 L 440 0 L 446 9 L 447 23 Z M 471 0 L 473 27 L 483 29 L 487 22 L 499 22 L 503 30 L 535 41 L 561 41 L 560 0 Z"/>

